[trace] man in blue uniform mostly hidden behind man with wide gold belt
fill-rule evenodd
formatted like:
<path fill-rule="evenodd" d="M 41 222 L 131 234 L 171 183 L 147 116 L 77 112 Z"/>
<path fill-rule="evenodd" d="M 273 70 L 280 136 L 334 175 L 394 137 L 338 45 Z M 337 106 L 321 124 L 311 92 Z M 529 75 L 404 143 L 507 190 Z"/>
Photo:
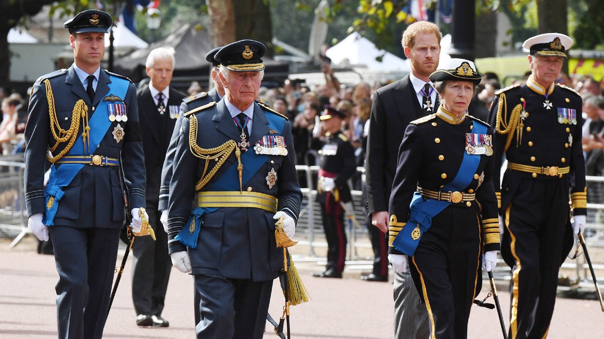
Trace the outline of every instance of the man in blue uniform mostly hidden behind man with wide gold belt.
<path fill-rule="evenodd" d="M 182 116 L 185 112 L 188 112 L 197 107 L 204 106 L 205 104 L 215 101 L 216 103 L 225 96 L 225 89 L 218 78 L 218 72 L 220 71 L 220 63 L 214 59 L 214 55 L 222 47 L 217 47 L 209 51 L 205 55 L 205 60 L 212 64 L 212 70 L 210 72 L 214 88 L 210 92 L 201 92 L 196 95 L 184 98 L 180 106 L 180 114 L 176 118 L 176 124 L 172 131 L 172 137 L 170 138 L 170 145 L 168 150 L 165 152 L 164 165 L 161 170 L 161 186 L 159 188 L 159 204 L 158 209 L 161 211 L 161 223 L 164 226 L 164 230 L 168 232 L 168 197 L 170 197 L 170 179 L 172 179 L 172 170 L 174 163 L 174 155 L 176 154 L 176 143 L 178 142 L 178 136 L 180 135 L 182 126 Z M 199 323 L 199 301 L 201 296 L 193 289 L 193 306 L 195 308 L 195 323 Z"/>

